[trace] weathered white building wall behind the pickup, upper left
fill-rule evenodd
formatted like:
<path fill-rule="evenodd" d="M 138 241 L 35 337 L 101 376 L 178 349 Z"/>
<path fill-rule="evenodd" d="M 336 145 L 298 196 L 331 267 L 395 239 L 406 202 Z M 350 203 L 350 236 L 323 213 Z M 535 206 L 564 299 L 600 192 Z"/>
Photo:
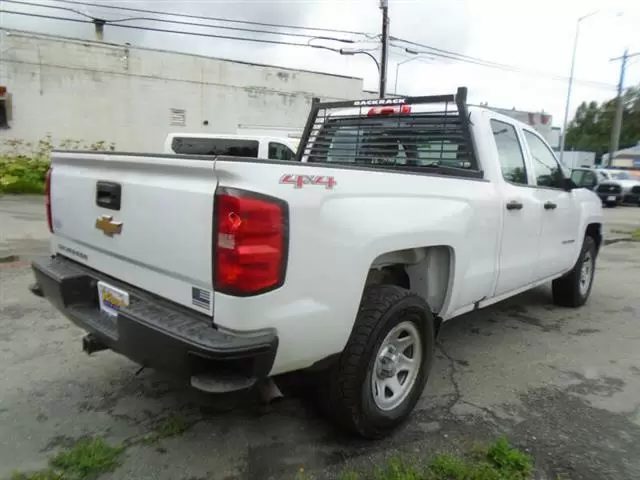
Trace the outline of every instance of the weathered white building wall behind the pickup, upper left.
<path fill-rule="evenodd" d="M 161 152 L 171 131 L 298 131 L 314 96 L 360 98 L 362 80 L 126 45 L 0 29 L 0 85 L 11 95 L 6 139 L 50 134 L 118 150 Z M 186 112 L 170 124 L 171 109 Z"/>

